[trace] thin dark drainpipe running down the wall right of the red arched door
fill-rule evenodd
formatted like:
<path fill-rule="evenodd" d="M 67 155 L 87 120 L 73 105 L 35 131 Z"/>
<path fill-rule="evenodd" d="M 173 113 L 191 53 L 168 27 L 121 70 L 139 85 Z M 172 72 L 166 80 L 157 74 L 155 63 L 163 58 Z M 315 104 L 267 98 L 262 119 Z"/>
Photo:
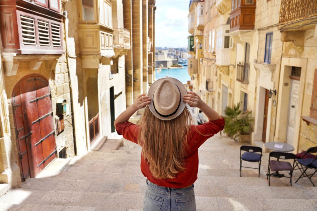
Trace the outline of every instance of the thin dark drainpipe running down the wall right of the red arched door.
<path fill-rule="evenodd" d="M 65 6 L 65 4 L 64 4 Z M 66 27 L 66 24 L 68 24 L 68 19 L 67 19 L 67 11 L 64 8 L 63 11 L 64 15 L 64 31 L 65 31 L 65 54 L 66 54 L 66 60 L 67 60 L 67 71 L 68 71 L 68 81 L 69 81 L 69 90 L 70 90 L 70 105 L 72 107 L 71 109 L 71 115 L 72 115 L 72 126 L 73 126 L 73 138 L 74 138 L 74 153 L 77 155 L 77 147 L 76 147 L 76 133 L 75 133 L 75 123 L 74 123 L 74 105 L 73 105 L 73 89 L 72 89 L 72 83 L 70 80 L 70 71 L 69 71 L 69 55 L 68 55 L 68 49 L 67 49 L 67 35 L 68 35 L 68 27 Z"/>

